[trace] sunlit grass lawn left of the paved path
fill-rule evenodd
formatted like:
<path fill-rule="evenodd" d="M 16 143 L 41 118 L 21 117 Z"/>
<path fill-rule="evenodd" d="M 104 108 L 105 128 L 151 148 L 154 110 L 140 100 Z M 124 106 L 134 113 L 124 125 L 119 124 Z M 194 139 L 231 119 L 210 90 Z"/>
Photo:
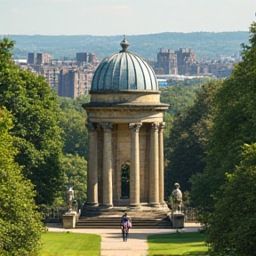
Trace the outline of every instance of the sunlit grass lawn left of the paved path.
<path fill-rule="evenodd" d="M 40 256 L 100 256 L 101 237 L 91 234 L 46 232 Z"/>

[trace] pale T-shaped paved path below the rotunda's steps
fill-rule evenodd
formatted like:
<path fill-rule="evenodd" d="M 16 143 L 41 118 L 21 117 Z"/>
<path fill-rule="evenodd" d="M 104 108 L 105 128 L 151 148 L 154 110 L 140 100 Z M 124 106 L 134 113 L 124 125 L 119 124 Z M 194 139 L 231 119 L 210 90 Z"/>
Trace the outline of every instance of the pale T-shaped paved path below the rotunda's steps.
<path fill-rule="evenodd" d="M 185 223 L 180 232 L 196 232 L 200 228 L 196 223 Z M 127 242 L 123 241 L 121 229 L 61 228 L 49 226 L 52 232 L 74 232 L 97 234 L 101 236 L 101 256 L 146 256 L 148 255 L 147 237 L 154 234 L 175 233 L 176 229 L 139 229 L 131 228 Z"/>

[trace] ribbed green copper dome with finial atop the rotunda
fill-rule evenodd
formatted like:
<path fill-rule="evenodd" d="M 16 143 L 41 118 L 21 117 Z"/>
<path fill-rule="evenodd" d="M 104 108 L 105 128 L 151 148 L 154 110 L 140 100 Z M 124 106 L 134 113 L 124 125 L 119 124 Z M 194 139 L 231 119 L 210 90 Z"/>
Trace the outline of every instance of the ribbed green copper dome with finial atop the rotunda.
<path fill-rule="evenodd" d="M 91 91 L 158 91 L 153 68 L 140 56 L 127 51 L 130 45 L 124 38 L 122 51 L 102 60 L 92 79 Z"/>

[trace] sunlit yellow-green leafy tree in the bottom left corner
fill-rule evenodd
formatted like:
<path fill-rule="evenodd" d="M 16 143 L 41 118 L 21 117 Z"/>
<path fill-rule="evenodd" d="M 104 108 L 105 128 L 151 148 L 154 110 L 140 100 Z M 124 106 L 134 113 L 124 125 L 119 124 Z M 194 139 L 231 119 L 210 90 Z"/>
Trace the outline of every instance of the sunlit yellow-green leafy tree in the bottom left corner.
<path fill-rule="evenodd" d="M 14 162 L 12 116 L 0 108 L 0 254 L 36 255 L 40 247 L 41 218 L 36 212 L 33 185 Z M 35 254 L 34 254 L 35 253 Z"/>

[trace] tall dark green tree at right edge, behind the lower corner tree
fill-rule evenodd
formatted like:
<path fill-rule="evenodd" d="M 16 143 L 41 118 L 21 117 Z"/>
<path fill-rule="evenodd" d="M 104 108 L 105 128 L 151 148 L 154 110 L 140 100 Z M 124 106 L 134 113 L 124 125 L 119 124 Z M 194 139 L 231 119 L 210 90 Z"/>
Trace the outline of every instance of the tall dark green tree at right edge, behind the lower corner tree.
<path fill-rule="evenodd" d="M 232 75 L 224 80 L 212 101 L 215 114 L 206 168 L 192 179 L 190 196 L 200 207 L 201 220 L 205 224 L 211 221 L 215 204 L 213 196 L 226 182 L 225 173 L 234 172 L 236 165 L 241 162 L 244 143 L 252 144 L 256 138 L 255 22 L 250 28 L 249 41 L 251 45 L 242 45 L 243 61 L 236 64 Z"/>

